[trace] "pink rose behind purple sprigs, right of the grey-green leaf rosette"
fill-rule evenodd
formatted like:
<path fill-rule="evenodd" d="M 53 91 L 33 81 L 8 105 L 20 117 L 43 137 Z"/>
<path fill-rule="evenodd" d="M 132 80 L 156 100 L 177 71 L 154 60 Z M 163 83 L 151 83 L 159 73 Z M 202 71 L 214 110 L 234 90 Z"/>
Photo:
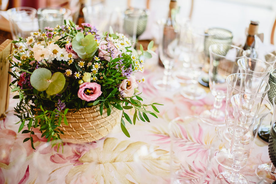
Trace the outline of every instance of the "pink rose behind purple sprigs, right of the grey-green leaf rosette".
<path fill-rule="evenodd" d="M 103 40 L 100 43 L 99 46 L 99 56 L 104 58 L 106 61 L 110 62 L 110 53 L 107 52 L 107 48 L 110 48 L 111 51 L 113 51 L 112 58 L 116 58 L 118 55 L 120 55 L 122 52 L 118 50 L 112 42 L 110 42 L 109 46 L 107 47 L 107 41 Z"/>

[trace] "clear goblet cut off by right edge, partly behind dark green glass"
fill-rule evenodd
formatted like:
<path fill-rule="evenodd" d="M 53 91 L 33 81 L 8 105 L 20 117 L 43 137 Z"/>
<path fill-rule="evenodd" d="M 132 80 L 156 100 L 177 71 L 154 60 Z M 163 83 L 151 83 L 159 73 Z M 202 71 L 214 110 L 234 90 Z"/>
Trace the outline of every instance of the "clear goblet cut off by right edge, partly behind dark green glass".
<path fill-rule="evenodd" d="M 276 122 L 276 96 L 273 98 L 273 116 L 272 116 L 271 129 L 274 128 L 273 126 L 275 125 L 274 124 L 275 122 Z M 261 165 L 258 165 L 258 167 L 255 170 L 255 174 L 257 175 L 258 178 L 263 179 L 266 183 L 270 184 L 275 181 L 276 167 L 274 166 L 273 163 L 263 163 Z"/>

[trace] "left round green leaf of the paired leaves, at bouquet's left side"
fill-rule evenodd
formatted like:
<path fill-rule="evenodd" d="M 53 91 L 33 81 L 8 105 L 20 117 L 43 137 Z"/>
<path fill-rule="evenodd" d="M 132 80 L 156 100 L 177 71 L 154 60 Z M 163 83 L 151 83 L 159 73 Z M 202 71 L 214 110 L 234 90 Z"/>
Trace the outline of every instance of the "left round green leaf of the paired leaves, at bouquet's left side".
<path fill-rule="evenodd" d="M 46 68 L 35 69 L 30 77 L 31 85 L 37 91 L 45 91 L 49 87 L 52 73 Z"/>

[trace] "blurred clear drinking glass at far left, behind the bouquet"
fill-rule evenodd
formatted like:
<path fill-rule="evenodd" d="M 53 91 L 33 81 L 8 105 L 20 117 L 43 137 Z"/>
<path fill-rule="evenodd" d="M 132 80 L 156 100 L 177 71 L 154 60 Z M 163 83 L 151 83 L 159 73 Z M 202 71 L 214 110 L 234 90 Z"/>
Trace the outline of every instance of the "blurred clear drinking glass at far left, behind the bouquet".
<path fill-rule="evenodd" d="M 36 9 L 31 7 L 16 7 L 7 10 L 12 38 L 27 38 L 31 32 L 38 31 Z"/>

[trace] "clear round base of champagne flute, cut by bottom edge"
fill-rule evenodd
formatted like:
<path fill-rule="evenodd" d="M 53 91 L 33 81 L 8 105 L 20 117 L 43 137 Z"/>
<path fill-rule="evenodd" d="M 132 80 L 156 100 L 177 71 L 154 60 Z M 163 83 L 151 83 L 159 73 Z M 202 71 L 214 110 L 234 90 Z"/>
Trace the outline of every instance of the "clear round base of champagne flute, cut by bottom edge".
<path fill-rule="evenodd" d="M 237 182 L 230 181 L 230 171 L 221 172 L 217 175 L 216 184 L 249 184 L 248 180 L 240 174 L 239 180 Z"/>

